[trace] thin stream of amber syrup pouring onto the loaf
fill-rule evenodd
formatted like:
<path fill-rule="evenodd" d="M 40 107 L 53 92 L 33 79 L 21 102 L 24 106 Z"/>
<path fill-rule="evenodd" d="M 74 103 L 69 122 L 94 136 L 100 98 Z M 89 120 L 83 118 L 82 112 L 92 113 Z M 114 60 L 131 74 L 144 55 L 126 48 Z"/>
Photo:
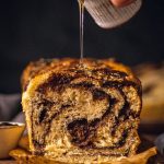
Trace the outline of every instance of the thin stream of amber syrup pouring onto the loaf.
<path fill-rule="evenodd" d="M 80 65 L 83 66 L 84 58 L 84 0 L 79 1 L 80 11 Z"/>

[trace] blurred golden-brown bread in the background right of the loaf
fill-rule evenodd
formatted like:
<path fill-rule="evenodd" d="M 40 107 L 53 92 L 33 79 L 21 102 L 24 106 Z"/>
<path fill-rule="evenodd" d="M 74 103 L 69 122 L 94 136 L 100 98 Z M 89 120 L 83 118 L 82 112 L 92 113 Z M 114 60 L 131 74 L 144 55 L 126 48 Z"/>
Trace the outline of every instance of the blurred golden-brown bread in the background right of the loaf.
<path fill-rule="evenodd" d="M 145 132 L 163 132 L 164 127 L 164 62 L 142 63 L 136 68 L 142 82 L 143 107 L 141 128 Z"/>

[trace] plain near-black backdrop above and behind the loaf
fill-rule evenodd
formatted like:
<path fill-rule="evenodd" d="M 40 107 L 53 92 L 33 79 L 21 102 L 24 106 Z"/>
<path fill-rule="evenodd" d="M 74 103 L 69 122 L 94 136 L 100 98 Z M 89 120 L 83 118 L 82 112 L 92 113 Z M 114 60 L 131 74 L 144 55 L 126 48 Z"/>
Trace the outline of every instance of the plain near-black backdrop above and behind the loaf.
<path fill-rule="evenodd" d="M 85 13 L 84 54 L 134 66 L 164 58 L 164 0 L 143 0 L 140 12 L 115 30 Z M 24 67 L 38 58 L 80 57 L 77 0 L 0 2 L 0 93 L 21 92 Z"/>

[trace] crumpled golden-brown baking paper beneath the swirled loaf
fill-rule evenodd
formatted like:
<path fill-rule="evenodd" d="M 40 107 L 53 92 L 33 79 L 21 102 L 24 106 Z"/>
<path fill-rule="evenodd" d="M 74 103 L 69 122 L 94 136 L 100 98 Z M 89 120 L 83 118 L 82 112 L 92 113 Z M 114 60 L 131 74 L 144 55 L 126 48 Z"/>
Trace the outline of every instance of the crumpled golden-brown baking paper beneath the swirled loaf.
<path fill-rule="evenodd" d="M 24 137 L 20 140 L 20 149 L 13 150 L 10 152 L 10 155 L 16 160 L 20 164 L 61 164 L 61 162 L 57 162 L 56 159 L 52 159 L 50 156 L 36 156 L 32 155 L 30 153 L 28 148 L 28 138 Z M 118 161 L 113 162 L 106 162 L 106 163 L 99 163 L 99 164 L 147 164 L 148 160 L 151 156 L 154 156 L 156 154 L 156 148 L 151 148 L 149 150 L 145 150 L 144 152 L 141 152 L 137 155 L 133 155 L 131 157 L 122 157 Z"/>

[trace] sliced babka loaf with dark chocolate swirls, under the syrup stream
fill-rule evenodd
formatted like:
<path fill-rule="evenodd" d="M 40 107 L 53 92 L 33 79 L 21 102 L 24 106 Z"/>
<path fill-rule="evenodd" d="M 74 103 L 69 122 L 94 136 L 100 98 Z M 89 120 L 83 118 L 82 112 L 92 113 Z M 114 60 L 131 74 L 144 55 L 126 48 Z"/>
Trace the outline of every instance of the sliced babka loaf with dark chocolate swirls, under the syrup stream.
<path fill-rule="evenodd" d="M 66 163 L 136 154 L 141 83 L 112 59 L 32 62 L 22 77 L 30 149 Z"/>

